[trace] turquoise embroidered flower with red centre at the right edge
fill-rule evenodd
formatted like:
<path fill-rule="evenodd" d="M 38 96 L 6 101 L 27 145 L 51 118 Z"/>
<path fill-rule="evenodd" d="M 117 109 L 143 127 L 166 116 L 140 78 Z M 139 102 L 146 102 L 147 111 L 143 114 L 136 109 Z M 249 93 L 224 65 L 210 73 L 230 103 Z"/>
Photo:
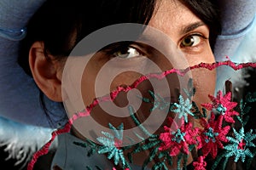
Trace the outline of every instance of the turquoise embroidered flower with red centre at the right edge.
<path fill-rule="evenodd" d="M 227 137 L 232 144 L 228 144 L 224 147 L 224 149 L 227 150 L 226 157 L 235 156 L 235 162 L 240 158 L 241 161 L 244 162 L 246 156 L 253 157 L 253 154 L 248 147 L 255 147 L 252 140 L 256 138 L 256 134 L 252 134 L 252 130 L 251 132 L 244 134 L 243 127 L 241 127 L 239 133 L 236 132 L 235 128 L 233 128 L 233 131 L 236 139 Z"/>

